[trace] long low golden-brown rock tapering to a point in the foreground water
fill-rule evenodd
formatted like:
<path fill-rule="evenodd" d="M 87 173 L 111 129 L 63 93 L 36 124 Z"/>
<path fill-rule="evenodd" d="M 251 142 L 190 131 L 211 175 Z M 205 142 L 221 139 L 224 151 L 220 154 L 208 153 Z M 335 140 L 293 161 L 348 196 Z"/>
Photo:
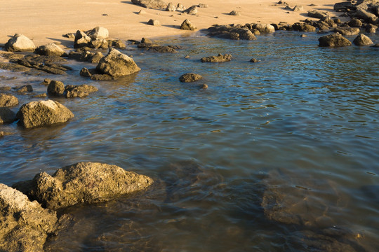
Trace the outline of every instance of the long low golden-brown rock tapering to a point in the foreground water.
<path fill-rule="evenodd" d="M 152 185 L 148 176 L 127 172 L 116 165 L 79 162 L 58 169 L 53 176 L 41 172 L 27 181 L 25 193 L 48 209 L 61 209 L 78 203 L 102 202 Z M 15 185 L 25 190 L 25 185 Z"/>

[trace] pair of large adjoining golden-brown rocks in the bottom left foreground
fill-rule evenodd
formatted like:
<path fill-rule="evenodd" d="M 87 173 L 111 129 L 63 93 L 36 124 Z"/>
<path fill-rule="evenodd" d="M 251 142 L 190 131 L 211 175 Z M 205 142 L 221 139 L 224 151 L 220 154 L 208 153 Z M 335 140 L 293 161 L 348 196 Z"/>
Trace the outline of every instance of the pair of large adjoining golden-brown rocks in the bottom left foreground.
<path fill-rule="evenodd" d="M 152 183 L 148 176 L 115 165 L 79 162 L 12 188 L 0 184 L 0 251 L 44 251 L 58 228 L 56 211 L 145 190 Z"/>

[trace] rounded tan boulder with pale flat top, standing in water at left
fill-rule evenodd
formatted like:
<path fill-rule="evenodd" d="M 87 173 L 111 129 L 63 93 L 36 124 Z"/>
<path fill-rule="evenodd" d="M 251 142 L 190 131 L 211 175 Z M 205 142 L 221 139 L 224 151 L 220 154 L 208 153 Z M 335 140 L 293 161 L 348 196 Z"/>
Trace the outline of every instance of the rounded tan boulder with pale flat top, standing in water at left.
<path fill-rule="evenodd" d="M 74 114 L 65 106 L 52 100 L 29 102 L 21 106 L 16 114 L 19 123 L 25 128 L 65 123 Z"/>

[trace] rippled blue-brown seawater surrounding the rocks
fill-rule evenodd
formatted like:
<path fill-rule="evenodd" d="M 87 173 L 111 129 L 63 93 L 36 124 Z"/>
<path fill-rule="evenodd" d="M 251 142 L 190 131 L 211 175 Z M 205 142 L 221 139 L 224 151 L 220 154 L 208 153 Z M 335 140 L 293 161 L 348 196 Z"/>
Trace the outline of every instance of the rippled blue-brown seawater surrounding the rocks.
<path fill-rule="evenodd" d="M 83 99 L 54 98 L 74 113 L 68 123 L 32 130 L 1 125 L 13 134 L 0 139 L 0 183 L 84 161 L 157 181 L 147 193 L 66 209 L 60 214 L 70 216 L 69 228 L 46 249 L 317 251 L 305 241 L 313 232 L 322 234 L 321 243 L 336 239 L 375 251 L 378 48 L 320 48 L 320 35 L 290 31 L 256 41 L 198 35 L 157 40 L 181 45 L 176 54 L 121 50 L 142 70 L 120 80 L 83 78 L 80 69 L 94 66 L 73 61 L 67 76 L 0 70 L 1 86 L 31 84 L 35 93 L 46 92 L 44 78 L 99 89 Z M 370 36 L 378 43 L 378 35 Z M 232 61 L 199 60 L 219 52 Z M 248 62 L 253 57 L 260 62 Z M 180 83 L 187 72 L 204 78 Z M 201 90 L 204 83 L 208 89 Z M 36 99 L 16 96 L 20 105 Z M 262 207 L 267 188 L 284 199 L 295 195 L 291 204 L 307 207 L 295 208 L 294 218 L 310 222 L 270 219 Z M 320 231 L 327 228 L 345 230 L 350 239 Z"/>

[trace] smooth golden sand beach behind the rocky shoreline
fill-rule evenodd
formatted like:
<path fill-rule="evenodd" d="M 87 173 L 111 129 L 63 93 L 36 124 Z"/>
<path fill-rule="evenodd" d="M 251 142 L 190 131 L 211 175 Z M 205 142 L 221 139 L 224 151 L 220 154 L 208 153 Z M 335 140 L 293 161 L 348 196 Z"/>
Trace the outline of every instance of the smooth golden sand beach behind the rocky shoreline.
<path fill-rule="evenodd" d="M 311 9 L 326 10 L 332 15 L 335 0 L 286 1 L 290 6 L 302 5 L 304 11 L 297 13 L 284 10 L 277 5 L 279 0 L 180 0 L 185 7 L 199 3 L 208 4 L 208 8 L 199 8 L 197 16 L 146 9 L 133 5 L 131 1 L 119 0 L 0 0 L 0 43 L 6 43 L 15 33 L 24 34 L 34 40 L 36 45 L 60 41 L 64 45 L 72 40 L 63 38 L 62 34 L 75 32 L 77 29 L 92 29 L 102 26 L 109 29 L 112 38 L 140 39 L 189 34 L 179 29 L 183 20 L 189 19 L 197 28 L 203 29 L 213 24 L 225 25 L 246 22 L 298 22 L 307 18 Z M 168 1 L 166 1 L 168 3 Z M 310 6 L 313 3 L 316 6 Z M 138 15 L 144 9 L 147 13 Z M 232 10 L 239 10 L 241 16 L 227 15 Z M 102 15 L 107 14 L 107 15 Z M 218 17 L 218 18 L 216 18 Z M 147 25 L 149 19 L 157 19 L 159 27 Z"/>

